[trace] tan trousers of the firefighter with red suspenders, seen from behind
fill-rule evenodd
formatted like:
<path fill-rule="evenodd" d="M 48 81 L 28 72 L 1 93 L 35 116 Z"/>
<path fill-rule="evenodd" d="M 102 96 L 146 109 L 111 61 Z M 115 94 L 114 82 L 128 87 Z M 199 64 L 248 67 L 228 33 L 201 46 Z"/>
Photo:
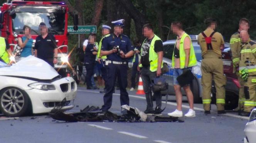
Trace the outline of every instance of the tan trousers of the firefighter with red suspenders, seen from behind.
<path fill-rule="evenodd" d="M 204 110 L 211 110 L 212 79 L 216 87 L 217 110 L 224 110 L 226 77 L 223 75 L 223 64 L 219 58 L 204 58 L 201 63 L 202 71 L 202 100 Z"/>

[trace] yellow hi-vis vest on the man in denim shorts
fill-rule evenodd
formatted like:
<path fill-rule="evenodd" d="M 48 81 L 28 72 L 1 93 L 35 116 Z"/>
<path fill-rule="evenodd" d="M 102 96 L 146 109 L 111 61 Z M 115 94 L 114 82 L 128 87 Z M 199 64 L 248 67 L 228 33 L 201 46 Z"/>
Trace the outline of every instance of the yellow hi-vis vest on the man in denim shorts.
<path fill-rule="evenodd" d="M 185 54 L 185 50 L 184 50 L 184 39 L 185 37 L 189 37 L 190 39 L 190 55 L 189 55 L 189 65 L 188 67 L 192 67 L 192 66 L 196 66 L 197 65 L 197 59 L 195 57 L 195 51 L 194 51 L 194 47 L 192 45 L 192 41 L 189 35 L 187 35 L 187 33 L 184 33 L 184 35 L 182 35 L 181 39 L 180 39 L 180 69 L 184 69 L 185 67 L 185 60 L 186 60 L 186 54 Z M 176 47 L 176 43 L 175 46 Z M 174 62 L 174 50 L 173 50 L 173 54 L 172 54 L 172 67 L 175 67 L 175 62 Z"/>

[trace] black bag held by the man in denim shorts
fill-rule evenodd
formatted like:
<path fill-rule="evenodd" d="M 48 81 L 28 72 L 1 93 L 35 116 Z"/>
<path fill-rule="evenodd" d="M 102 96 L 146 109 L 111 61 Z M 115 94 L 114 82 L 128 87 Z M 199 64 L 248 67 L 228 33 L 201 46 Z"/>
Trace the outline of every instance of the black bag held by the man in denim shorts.
<path fill-rule="evenodd" d="M 195 76 L 192 74 L 191 70 L 188 70 L 187 72 L 177 77 L 177 81 L 179 82 L 181 87 L 190 84 L 193 79 L 195 79 Z"/>

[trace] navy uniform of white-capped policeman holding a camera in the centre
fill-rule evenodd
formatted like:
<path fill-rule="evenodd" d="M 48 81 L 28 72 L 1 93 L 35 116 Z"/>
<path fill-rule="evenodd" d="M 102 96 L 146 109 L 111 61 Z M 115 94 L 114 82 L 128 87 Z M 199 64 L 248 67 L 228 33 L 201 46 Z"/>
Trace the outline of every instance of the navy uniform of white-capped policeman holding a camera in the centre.
<path fill-rule="evenodd" d="M 102 41 L 103 51 L 109 51 L 113 47 L 119 46 L 120 50 L 124 54 L 133 50 L 131 46 L 131 41 L 126 35 L 119 35 L 118 37 L 115 34 L 111 34 L 109 37 L 106 37 Z M 126 91 L 127 87 L 127 68 L 128 68 L 128 59 L 121 58 L 118 55 L 118 52 L 109 54 L 107 56 L 108 66 L 107 66 L 107 80 L 106 84 L 106 93 L 104 95 L 104 105 L 102 106 L 102 111 L 107 111 L 112 105 L 112 95 L 115 91 L 115 81 L 118 77 L 118 83 L 120 85 L 120 102 L 121 105 L 129 105 L 129 97 Z"/>

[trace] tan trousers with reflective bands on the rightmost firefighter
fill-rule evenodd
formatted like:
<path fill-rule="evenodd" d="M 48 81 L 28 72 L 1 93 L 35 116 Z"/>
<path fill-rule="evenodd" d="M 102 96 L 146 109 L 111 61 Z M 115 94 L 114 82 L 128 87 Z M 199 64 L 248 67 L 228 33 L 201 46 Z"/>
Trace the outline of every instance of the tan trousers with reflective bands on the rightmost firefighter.
<path fill-rule="evenodd" d="M 244 111 L 251 112 L 256 106 L 256 76 L 248 76 L 247 81 L 244 83 Z"/>

